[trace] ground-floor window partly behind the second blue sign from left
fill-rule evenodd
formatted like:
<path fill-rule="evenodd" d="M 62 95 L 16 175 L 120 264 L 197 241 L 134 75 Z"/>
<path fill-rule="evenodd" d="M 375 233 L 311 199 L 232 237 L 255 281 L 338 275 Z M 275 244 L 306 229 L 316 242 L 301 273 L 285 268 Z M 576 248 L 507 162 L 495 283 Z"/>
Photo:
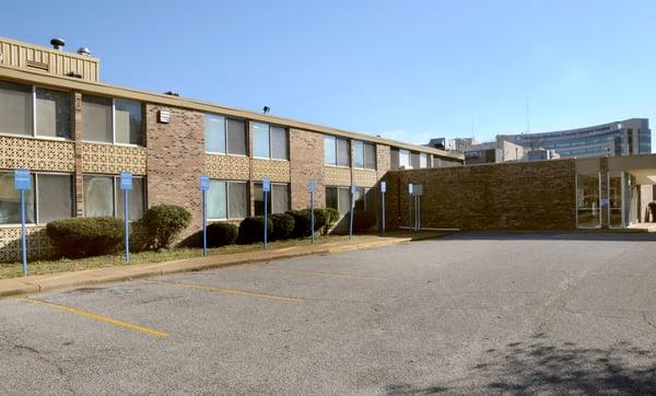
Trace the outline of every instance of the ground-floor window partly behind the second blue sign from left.
<path fill-rule="evenodd" d="M 132 189 L 128 191 L 130 220 L 138 220 L 143 216 L 144 189 L 143 178 L 132 178 Z M 120 189 L 120 177 L 84 176 L 84 216 L 122 218 L 124 213 L 125 191 Z"/>

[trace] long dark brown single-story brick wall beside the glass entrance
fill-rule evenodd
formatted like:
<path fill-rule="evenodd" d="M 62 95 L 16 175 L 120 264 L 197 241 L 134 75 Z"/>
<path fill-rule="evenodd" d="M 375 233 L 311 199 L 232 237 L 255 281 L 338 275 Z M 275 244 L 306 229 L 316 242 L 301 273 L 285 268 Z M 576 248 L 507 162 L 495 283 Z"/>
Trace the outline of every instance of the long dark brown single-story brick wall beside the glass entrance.
<path fill-rule="evenodd" d="M 422 184 L 421 225 L 472 230 L 574 230 L 575 161 L 393 171 L 390 229 L 409 225 L 408 184 Z"/>

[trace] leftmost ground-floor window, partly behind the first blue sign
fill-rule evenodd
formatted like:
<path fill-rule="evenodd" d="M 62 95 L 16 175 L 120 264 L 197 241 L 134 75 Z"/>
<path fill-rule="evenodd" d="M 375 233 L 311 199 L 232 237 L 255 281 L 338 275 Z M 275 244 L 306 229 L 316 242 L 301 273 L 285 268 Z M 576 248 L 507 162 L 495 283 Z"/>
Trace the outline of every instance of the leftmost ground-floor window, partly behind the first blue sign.
<path fill-rule="evenodd" d="M 73 213 L 72 176 L 37 173 L 25 191 L 25 221 L 45 224 Z M 0 173 L 0 224 L 21 223 L 21 193 L 14 189 L 13 172 Z M 34 197 L 36 196 L 36 200 Z"/>

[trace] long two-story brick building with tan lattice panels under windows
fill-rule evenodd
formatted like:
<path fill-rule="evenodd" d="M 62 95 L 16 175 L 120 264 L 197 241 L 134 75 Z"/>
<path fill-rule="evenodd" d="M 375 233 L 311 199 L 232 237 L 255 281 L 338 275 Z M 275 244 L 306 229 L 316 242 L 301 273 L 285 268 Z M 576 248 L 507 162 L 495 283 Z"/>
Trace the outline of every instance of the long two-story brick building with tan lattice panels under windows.
<path fill-rule="evenodd" d="M 57 44 L 57 43 L 56 43 Z M 356 205 L 389 170 L 453 166 L 458 154 L 336 128 L 245 112 L 172 94 L 99 82 L 99 60 L 87 51 L 34 46 L 0 37 L 0 259 L 20 257 L 19 195 L 13 170 L 27 167 L 28 248 L 47 253 L 49 221 L 81 216 L 122 217 L 117 176 L 136 176 L 130 217 L 166 202 L 201 226 L 198 178 L 211 177 L 208 217 L 239 220 L 263 210 L 261 179 L 270 177 L 271 211 L 316 205 L 345 213 L 349 186 Z M 365 198 L 366 197 L 366 198 Z"/>

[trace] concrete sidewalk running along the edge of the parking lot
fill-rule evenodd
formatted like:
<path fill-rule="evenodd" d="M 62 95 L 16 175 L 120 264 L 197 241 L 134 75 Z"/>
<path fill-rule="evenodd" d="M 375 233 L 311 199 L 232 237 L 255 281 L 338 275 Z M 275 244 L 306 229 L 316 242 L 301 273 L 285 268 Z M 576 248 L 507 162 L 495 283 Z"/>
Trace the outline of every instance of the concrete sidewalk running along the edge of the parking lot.
<path fill-rule="evenodd" d="M 238 264 L 261 263 L 278 258 L 359 251 L 411 241 L 429 240 L 446 234 L 447 233 L 445 232 L 421 232 L 415 235 L 403 236 L 359 235 L 358 241 L 354 242 L 332 242 L 320 245 L 292 246 L 271 251 L 195 257 L 156 264 L 138 264 L 132 266 L 40 275 L 27 278 L 2 279 L 0 280 L 0 298 L 40 293 L 56 289 L 75 288 L 94 283 L 154 277 L 166 273 L 197 271 Z"/>

